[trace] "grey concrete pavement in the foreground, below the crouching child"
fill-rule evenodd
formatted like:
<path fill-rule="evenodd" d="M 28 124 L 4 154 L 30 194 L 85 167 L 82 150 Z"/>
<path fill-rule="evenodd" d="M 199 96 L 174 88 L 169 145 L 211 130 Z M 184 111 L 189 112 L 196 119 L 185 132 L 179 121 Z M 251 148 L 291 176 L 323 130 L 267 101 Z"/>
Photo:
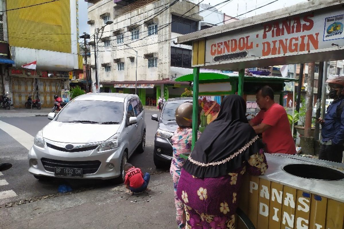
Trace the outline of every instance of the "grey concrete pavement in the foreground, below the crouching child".
<path fill-rule="evenodd" d="M 0 228 L 177 228 L 170 174 L 152 175 L 148 187 L 151 191 L 133 196 L 121 185 L 1 206 Z"/>

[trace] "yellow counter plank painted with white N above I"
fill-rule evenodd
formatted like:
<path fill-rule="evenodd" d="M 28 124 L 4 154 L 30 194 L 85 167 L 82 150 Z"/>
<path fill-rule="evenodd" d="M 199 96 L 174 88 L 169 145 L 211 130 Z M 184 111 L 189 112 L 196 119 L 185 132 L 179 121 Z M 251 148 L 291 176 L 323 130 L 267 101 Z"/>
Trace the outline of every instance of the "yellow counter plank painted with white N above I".
<path fill-rule="evenodd" d="M 271 182 L 268 229 L 281 228 L 283 185 Z"/>

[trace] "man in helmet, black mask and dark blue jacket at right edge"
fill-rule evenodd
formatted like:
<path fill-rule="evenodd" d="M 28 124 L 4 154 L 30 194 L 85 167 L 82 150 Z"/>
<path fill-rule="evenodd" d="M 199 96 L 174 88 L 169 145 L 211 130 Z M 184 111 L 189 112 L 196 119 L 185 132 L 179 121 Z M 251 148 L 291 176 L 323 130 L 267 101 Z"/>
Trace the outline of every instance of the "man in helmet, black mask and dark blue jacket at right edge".
<path fill-rule="evenodd" d="M 318 119 L 321 124 L 319 159 L 342 162 L 344 143 L 344 76 L 327 79 L 329 96 L 333 102 L 327 107 L 325 119 Z"/>

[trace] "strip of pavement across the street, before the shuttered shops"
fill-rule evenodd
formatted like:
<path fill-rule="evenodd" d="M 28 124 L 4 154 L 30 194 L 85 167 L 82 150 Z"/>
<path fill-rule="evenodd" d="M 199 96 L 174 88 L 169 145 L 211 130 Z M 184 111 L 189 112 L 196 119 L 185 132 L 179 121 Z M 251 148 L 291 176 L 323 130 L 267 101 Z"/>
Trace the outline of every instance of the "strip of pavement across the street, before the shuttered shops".
<path fill-rule="evenodd" d="M 159 109 L 155 106 L 143 106 L 144 110 L 151 110 L 151 111 L 159 111 Z M 0 108 L 0 118 L 3 117 L 36 117 L 36 116 L 47 116 L 52 107 L 42 107 L 41 110 L 37 110 L 37 108 L 33 107 L 31 109 L 27 108 L 13 108 L 11 107 L 10 110 L 6 110 L 4 108 Z"/>

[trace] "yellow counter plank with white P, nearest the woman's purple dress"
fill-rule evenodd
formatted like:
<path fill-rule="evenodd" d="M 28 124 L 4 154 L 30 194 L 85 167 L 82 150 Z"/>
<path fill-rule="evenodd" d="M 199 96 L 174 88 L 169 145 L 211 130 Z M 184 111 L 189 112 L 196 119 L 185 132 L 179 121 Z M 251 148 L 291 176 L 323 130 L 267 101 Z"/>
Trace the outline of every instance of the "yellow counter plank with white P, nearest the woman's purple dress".
<path fill-rule="evenodd" d="M 249 182 L 249 194 L 248 194 L 248 218 L 252 221 L 252 224 L 257 227 L 257 214 L 258 214 L 258 195 L 259 195 L 259 177 L 250 176 Z"/>

